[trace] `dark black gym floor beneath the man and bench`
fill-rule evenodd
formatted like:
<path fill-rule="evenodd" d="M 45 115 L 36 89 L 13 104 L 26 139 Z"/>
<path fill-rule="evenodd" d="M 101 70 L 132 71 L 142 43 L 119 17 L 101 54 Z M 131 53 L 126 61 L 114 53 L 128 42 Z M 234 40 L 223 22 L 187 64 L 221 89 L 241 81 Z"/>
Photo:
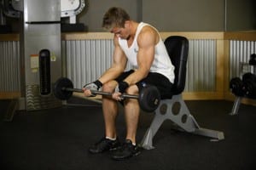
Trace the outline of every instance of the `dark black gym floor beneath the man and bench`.
<path fill-rule="evenodd" d="M 225 139 L 172 129 L 166 121 L 154 137 L 154 150 L 125 161 L 113 161 L 109 153 L 91 155 L 87 148 L 102 138 L 102 106 L 87 99 L 72 98 L 69 105 L 44 111 L 16 111 L 12 122 L 0 121 L 0 169 L 256 169 L 256 107 L 241 105 L 230 116 L 233 102 L 185 101 L 201 127 L 223 131 Z M 0 100 L 1 116 L 8 101 Z M 125 137 L 120 107 L 117 127 Z M 142 113 L 137 131 L 141 141 L 154 114 Z"/>

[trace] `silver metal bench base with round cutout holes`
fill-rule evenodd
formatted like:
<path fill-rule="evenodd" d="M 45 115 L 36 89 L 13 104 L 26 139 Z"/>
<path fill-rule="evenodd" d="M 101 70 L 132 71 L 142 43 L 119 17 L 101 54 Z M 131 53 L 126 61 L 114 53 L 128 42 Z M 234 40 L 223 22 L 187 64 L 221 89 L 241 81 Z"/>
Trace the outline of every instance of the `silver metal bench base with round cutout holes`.
<path fill-rule="evenodd" d="M 172 96 L 172 99 L 163 99 L 160 101 L 160 106 L 155 111 L 154 120 L 141 142 L 141 146 L 143 146 L 144 149 L 154 149 L 154 135 L 157 133 L 161 124 L 167 119 L 174 122 L 178 130 L 211 137 L 218 140 L 224 139 L 223 132 L 200 127 L 195 121 L 194 116 L 190 114 L 187 105 L 182 99 L 182 95 L 179 94 Z"/>

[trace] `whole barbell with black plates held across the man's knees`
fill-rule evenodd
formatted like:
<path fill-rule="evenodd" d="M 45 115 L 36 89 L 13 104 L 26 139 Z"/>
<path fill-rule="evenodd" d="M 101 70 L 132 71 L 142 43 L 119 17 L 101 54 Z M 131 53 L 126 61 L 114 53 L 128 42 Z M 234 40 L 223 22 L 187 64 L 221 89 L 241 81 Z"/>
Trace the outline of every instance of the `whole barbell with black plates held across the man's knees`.
<path fill-rule="evenodd" d="M 73 88 L 73 82 L 66 77 L 59 78 L 54 84 L 53 94 L 57 99 L 67 100 L 73 92 L 84 93 L 84 90 Z M 111 93 L 90 90 L 91 94 L 112 96 Z M 160 105 L 160 92 L 154 86 L 144 87 L 138 95 L 122 94 L 123 99 L 138 99 L 140 108 L 143 111 L 153 112 Z"/>

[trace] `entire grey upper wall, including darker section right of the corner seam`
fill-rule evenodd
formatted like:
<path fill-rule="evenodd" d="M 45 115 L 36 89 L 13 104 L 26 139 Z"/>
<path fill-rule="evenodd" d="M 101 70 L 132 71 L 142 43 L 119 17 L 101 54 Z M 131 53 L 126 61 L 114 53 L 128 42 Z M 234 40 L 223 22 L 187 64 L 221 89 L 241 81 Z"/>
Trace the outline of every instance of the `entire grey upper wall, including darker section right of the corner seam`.
<path fill-rule="evenodd" d="M 108 8 L 125 8 L 133 20 L 144 21 L 160 31 L 256 30 L 256 0 L 85 0 L 78 15 L 88 31 L 103 31 L 102 16 Z M 67 22 L 67 19 L 62 19 Z M 17 19 L 9 19 L 18 30 Z"/>

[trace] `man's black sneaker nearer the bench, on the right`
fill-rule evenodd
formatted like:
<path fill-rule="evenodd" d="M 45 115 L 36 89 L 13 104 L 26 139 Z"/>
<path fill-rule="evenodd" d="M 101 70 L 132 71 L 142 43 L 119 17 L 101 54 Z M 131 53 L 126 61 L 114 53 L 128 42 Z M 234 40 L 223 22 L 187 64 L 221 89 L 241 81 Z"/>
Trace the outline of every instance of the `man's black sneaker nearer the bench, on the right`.
<path fill-rule="evenodd" d="M 131 140 L 126 139 L 118 150 L 113 152 L 112 158 L 114 160 L 124 160 L 131 156 L 137 156 L 141 153 L 137 145 L 133 145 Z"/>

